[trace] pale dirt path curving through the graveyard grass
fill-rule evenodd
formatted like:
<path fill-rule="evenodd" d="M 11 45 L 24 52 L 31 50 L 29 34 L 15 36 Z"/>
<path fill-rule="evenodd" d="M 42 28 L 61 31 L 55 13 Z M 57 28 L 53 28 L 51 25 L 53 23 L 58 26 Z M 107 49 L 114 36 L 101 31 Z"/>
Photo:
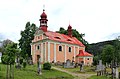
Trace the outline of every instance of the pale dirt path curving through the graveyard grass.
<path fill-rule="evenodd" d="M 87 79 L 92 75 L 96 75 L 96 74 L 80 74 L 80 73 L 69 72 L 67 70 L 63 70 L 63 69 L 57 68 L 57 67 L 52 67 L 52 68 L 56 69 L 56 70 L 59 70 L 59 71 L 62 71 L 62 72 L 66 72 L 68 74 L 71 74 L 72 76 L 75 77 L 74 79 Z"/>

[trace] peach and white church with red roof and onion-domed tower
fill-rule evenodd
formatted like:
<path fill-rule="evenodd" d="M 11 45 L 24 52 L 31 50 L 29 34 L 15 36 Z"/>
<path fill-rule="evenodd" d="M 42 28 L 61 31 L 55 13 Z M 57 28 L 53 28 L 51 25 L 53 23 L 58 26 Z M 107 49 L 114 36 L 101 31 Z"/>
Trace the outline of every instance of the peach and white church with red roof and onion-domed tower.
<path fill-rule="evenodd" d="M 33 63 L 37 63 L 39 57 L 44 62 L 66 62 L 71 60 L 84 65 L 93 63 L 93 55 L 85 51 L 85 46 L 76 37 L 72 36 L 72 26 L 68 26 L 68 35 L 49 31 L 45 10 L 40 15 L 40 26 L 31 43 L 31 55 Z"/>

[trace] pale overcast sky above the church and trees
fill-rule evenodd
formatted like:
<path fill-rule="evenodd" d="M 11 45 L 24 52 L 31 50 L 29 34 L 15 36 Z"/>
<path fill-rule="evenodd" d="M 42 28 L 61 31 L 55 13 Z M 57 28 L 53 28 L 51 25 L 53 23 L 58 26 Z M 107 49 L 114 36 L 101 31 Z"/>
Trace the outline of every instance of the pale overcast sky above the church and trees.
<path fill-rule="evenodd" d="M 43 5 L 48 30 L 67 29 L 70 23 L 73 29 L 85 33 L 89 43 L 120 33 L 120 0 L 0 0 L 0 38 L 17 42 L 28 21 L 39 27 Z"/>

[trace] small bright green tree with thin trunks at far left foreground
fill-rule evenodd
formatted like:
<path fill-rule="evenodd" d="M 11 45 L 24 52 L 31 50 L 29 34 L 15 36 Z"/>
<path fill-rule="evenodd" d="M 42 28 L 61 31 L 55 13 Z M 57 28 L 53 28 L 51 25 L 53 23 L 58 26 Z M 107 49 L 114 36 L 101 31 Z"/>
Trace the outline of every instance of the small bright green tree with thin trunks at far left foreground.
<path fill-rule="evenodd" d="M 5 54 L 2 56 L 2 62 L 7 65 L 6 79 L 14 79 L 14 63 L 16 52 L 18 52 L 17 44 L 10 43 L 5 48 Z"/>

